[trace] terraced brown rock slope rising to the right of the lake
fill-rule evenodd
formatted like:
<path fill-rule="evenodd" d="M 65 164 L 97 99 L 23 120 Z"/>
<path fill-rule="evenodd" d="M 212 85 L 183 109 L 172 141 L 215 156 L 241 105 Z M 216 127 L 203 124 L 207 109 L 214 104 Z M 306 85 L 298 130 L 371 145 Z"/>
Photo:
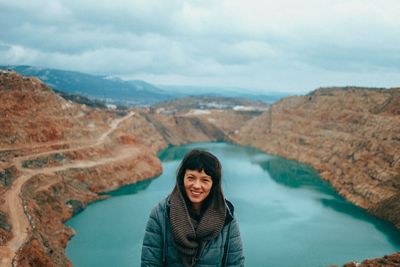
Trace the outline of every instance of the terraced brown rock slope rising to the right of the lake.
<path fill-rule="evenodd" d="M 399 89 L 318 89 L 289 97 L 234 139 L 309 163 L 339 194 L 400 229 Z"/>

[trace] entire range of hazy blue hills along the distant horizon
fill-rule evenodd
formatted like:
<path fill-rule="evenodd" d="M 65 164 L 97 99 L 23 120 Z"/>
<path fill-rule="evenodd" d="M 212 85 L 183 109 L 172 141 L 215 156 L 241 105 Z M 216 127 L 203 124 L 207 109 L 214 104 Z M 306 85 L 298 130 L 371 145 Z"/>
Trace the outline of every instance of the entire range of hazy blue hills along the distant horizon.
<path fill-rule="evenodd" d="M 258 94 L 240 88 L 204 87 L 192 85 L 152 85 L 145 81 L 124 81 L 116 77 L 92 75 L 77 71 L 33 66 L 1 66 L 24 76 L 34 76 L 60 92 L 98 99 L 115 106 L 151 106 L 185 96 L 247 98 L 272 104 L 288 93 Z M 88 100 L 89 100 L 88 99 Z"/>

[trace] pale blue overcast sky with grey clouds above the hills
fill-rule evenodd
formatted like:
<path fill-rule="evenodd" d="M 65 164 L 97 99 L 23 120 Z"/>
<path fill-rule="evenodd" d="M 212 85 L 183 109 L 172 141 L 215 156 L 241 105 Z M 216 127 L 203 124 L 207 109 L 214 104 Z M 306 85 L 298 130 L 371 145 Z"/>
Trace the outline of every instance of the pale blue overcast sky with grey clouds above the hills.
<path fill-rule="evenodd" d="M 305 93 L 400 86 L 399 0 L 0 0 L 0 64 Z"/>

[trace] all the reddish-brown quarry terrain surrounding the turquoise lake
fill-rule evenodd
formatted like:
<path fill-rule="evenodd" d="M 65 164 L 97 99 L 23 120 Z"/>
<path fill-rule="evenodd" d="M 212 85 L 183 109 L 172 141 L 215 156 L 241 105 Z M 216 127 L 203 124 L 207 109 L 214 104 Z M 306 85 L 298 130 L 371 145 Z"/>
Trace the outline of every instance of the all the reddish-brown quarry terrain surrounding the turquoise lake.
<path fill-rule="evenodd" d="M 65 220 L 99 192 L 160 174 L 158 151 L 196 141 L 237 142 L 309 163 L 345 198 L 400 228 L 399 93 L 320 89 L 261 115 L 169 106 L 110 111 L 2 72 L 0 265 L 71 266 L 64 248 L 73 230 Z M 396 261 L 398 254 L 354 266 Z"/>

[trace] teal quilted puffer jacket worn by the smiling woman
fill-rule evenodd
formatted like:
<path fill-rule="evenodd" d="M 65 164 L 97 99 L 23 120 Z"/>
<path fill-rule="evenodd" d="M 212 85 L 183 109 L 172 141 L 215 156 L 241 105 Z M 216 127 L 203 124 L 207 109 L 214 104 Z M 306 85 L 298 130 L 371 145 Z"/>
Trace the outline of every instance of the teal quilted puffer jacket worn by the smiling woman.
<path fill-rule="evenodd" d="M 233 205 L 227 202 L 227 218 L 221 233 L 209 241 L 196 267 L 244 266 L 243 246 Z M 143 240 L 141 266 L 183 266 L 176 251 L 168 218 L 169 201 L 153 208 Z M 224 264 L 222 263 L 224 261 Z"/>

